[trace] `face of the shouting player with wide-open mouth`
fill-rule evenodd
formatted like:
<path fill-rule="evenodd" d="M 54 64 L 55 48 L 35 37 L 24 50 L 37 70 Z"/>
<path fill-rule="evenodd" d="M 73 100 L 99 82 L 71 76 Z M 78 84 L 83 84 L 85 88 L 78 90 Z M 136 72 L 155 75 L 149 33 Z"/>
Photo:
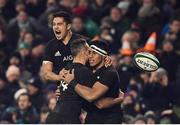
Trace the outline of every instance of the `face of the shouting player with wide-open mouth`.
<path fill-rule="evenodd" d="M 69 31 L 68 24 L 64 21 L 63 17 L 55 17 L 53 19 L 52 27 L 58 40 L 63 40 Z"/>

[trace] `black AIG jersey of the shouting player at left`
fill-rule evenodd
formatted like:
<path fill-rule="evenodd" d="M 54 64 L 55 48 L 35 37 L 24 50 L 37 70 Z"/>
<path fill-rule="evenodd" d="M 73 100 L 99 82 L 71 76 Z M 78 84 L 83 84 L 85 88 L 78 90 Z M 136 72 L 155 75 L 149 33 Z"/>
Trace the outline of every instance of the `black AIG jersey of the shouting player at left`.
<path fill-rule="evenodd" d="M 70 43 L 76 39 L 86 39 L 79 34 L 72 34 L 71 39 L 68 44 L 65 45 L 62 41 L 57 40 L 56 38 L 49 41 L 46 45 L 43 61 L 50 61 L 53 63 L 53 72 L 59 73 L 59 71 L 64 68 L 69 62 L 72 62 L 73 57 L 70 50 Z"/>

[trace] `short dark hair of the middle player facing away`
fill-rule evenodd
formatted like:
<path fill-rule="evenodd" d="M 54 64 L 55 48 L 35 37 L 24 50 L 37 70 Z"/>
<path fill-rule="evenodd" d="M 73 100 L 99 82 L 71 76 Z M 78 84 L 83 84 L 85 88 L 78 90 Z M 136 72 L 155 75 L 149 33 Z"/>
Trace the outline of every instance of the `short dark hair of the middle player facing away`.
<path fill-rule="evenodd" d="M 81 51 L 82 48 L 86 46 L 87 42 L 85 39 L 77 39 L 72 41 L 70 44 L 70 49 L 72 56 L 75 57 Z"/>

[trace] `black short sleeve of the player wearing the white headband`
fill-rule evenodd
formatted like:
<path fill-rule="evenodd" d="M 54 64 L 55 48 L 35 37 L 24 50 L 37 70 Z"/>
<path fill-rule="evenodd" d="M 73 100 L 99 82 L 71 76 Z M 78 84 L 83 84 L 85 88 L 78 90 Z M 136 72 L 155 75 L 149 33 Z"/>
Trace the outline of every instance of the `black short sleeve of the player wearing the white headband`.
<path fill-rule="evenodd" d="M 100 76 L 100 78 L 98 79 L 98 82 L 110 88 L 111 85 L 115 84 L 114 82 L 118 82 L 117 73 L 105 72 Z"/>

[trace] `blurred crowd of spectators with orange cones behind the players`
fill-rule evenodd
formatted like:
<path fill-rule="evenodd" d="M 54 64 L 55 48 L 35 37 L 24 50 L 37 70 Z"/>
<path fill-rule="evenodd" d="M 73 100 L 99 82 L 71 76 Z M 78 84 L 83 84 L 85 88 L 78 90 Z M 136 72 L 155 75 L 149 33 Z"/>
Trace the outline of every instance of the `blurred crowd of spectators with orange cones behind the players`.
<path fill-rule="evenodd" d="M 60 10 L 72 12 L 73 32 L 109 43 L 123 123 L 180 123 L 179 0 L 0 0 L 0 123 L 45 123 L 54 109 L 56 84 L 43 80 L 41 63 Z M 161 67 L 138 69 L 140 51 Z"/>

